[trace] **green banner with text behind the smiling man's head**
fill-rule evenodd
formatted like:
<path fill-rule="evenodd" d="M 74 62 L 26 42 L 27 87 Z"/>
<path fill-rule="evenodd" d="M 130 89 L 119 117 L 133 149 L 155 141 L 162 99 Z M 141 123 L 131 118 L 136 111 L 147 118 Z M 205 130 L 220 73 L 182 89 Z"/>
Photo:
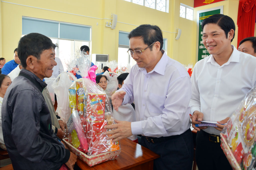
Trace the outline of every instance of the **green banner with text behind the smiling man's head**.
<path fill-rule="evenodd" d="M 198 61 L 210 55 L 203 44 L 203 30 L 201 25 L 205 18 L 208 18 L 214 14 L 220 14 L 220 9 L 199 13 Z"/>

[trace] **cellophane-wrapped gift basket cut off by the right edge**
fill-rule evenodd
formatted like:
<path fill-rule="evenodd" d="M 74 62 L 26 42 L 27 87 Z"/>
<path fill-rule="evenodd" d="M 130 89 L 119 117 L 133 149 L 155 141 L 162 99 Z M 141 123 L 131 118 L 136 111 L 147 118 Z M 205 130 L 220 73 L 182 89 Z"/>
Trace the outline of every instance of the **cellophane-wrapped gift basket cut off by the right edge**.
<path fill-rule="evenodd" d="M 256 168 L 256 89 L 252 88 L 223 128 L 221 148 L 233 169 Z"/>

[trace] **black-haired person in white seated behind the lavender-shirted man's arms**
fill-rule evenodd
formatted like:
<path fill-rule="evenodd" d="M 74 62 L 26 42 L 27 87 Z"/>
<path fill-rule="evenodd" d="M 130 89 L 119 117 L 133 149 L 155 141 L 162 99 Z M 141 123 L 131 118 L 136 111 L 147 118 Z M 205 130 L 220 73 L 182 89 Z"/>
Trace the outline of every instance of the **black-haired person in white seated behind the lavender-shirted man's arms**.
<path fill-rule="evenodd" d="M 117 77 L 118 80 L 118 87 L 121 88 L 124 84 L 124 80 L 128 76 L 129 73 L 122 73 Z M 119 89 L 118 88 L 118 89 Z M 133 104 L 133 103 L 132 103 Z M 135 122 L 135 110 L 134 104 L 127 103 L 124 105 L 119 106 L 118 111 L 113 109 L 114 118 L 120 121 L 128 121 L 128 122 Z M 132 135 L 128 137 L 128 139 L 138 143 L 137 135 Z"/>

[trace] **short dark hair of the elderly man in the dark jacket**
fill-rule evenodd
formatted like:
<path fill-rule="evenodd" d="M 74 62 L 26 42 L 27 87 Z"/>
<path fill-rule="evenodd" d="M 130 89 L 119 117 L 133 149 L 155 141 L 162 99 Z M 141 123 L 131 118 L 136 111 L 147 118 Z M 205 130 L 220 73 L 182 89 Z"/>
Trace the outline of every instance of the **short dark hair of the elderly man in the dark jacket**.
<path fill-rule="evenodd" d="M 40 55 L 44 50 L 55 49 L 57 45 L 51 39 L 39 33 L 29 33 L 20 38 L 18 44 L 18 56 L 23 68 L 27 67 L 27 58 L 32 55 L 40 60 Z"/>

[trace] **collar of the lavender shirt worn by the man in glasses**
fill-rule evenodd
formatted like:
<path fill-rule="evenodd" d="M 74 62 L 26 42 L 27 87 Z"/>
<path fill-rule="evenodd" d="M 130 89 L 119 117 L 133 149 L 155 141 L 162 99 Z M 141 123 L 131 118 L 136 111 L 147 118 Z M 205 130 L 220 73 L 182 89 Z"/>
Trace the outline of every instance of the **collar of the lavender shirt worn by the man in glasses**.
<path fill-rule="evenodd" d="M 161 59 L 158 61 L 158 63 L 156 64 L 156 66 L 154 67 L 154 69 L 148 73 L 152 73 L 153 71 L 155 71 L 158 74 L 164 75 L 165 73 L 165 67 L 167 64 L 167 60 L 168 60 L 168 56 L 165 53 L 165 51 L 162 49 L 161 52 L 163 53 L 163 56 L 161 57 Z M 147 71 L 145 68 L 138 68 L 139 70 L 141 70 L 142 72 L 145 72 L 145 74 L 147 74 Z"/>

